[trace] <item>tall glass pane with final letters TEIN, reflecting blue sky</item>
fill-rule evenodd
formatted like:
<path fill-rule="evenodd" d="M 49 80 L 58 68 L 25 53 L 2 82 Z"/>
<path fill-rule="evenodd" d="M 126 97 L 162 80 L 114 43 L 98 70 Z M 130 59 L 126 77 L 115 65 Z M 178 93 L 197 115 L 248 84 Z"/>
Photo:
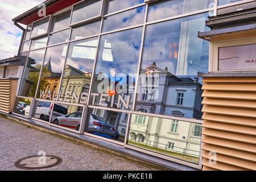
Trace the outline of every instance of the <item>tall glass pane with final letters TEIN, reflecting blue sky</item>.
<path fill-rule="evenodd" d="M 142 27 L 101 36 L 90 104 L 131 109 Z"/>

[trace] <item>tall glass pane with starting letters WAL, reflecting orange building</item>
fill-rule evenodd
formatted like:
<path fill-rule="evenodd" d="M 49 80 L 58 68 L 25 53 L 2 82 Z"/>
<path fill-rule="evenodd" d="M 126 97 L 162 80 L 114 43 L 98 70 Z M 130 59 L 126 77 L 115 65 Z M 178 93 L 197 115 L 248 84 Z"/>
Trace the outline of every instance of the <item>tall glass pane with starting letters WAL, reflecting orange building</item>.
<path fill-rule="evenodd" d="M 56 100 L 60 86 L 60 77 L 65 64 L 67 44 L 46 49 L 42 77 L 36 98 Z"/>

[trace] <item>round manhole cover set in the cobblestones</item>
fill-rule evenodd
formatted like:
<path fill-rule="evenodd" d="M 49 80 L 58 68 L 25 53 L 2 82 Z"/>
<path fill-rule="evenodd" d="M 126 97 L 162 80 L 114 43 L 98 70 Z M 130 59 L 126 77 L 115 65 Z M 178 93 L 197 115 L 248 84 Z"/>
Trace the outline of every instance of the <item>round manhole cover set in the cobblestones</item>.
<path fill-rule="evenodd" d="M 35 170 L 35 169 L 44 169 L 44 168 L 57 166 L 61 162 L 62 162 L 62 159 L 57 156 L 35 155 L 35 156 L 28 156 L 27 158 L 19 159 L 14 163 L 14 165 L 20 169 Z"/>

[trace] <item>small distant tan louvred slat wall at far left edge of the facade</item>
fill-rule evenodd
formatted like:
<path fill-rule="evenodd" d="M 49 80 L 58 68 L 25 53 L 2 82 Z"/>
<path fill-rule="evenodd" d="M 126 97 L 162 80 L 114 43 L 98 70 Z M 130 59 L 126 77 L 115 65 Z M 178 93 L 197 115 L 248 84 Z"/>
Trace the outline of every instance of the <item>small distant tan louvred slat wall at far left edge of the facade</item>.
<path fill-rule="evenodd" d="M 0 111 L 10 113 L 15 102 L 18 80 L 0 79 Z"/>

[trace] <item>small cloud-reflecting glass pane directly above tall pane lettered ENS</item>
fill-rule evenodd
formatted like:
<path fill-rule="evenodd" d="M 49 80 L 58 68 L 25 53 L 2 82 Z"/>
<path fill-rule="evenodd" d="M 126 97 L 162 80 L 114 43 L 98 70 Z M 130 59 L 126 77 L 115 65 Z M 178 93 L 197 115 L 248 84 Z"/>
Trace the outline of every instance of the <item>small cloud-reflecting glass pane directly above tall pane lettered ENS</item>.
<path fill-rule="evenodd" d="M 82 24 L 81 26 L 72 28 L 71 40 L 85 38 L 100 33 L 101 21 Z"/>

